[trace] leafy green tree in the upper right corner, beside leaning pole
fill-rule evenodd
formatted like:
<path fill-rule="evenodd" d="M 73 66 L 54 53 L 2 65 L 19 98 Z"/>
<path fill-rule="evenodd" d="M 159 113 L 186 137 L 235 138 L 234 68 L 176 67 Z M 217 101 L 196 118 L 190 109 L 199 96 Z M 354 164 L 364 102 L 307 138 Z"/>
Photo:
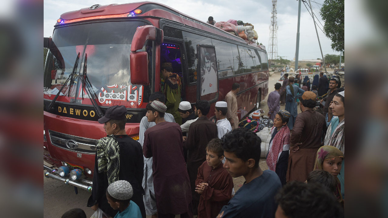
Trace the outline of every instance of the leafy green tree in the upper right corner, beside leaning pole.
<path fill-rule="evenodd" d="M 345 49 L 345 6 L 344 0 L 325 0 L 320 16 L 325 22 L 323 30 L 331 40 L 331 48 L 337 52 Z"/>

